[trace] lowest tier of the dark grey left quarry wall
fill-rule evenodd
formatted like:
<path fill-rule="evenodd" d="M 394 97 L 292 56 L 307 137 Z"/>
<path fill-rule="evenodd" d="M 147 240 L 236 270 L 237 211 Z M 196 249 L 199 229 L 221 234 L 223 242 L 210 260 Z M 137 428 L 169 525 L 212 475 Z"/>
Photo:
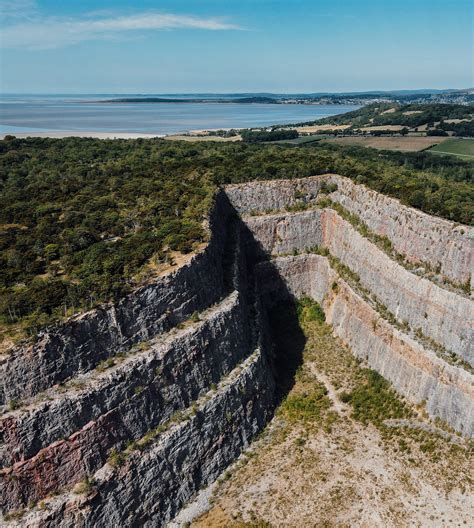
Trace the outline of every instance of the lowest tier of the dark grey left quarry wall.
<path fill-rule="evenodd" d="M 21 526 L 160 527 L 212 483 L 268 421 L 273 378 L 260 350 L 223 380 L 213 397 L 149 449 L 94 475 L 87 496 L 66 494 L 33 511 Z"/>

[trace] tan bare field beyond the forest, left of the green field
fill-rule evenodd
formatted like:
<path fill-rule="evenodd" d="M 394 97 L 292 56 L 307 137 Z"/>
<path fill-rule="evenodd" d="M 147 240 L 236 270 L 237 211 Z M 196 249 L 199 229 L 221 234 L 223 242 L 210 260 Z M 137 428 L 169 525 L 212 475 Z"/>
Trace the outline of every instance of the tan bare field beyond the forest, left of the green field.
<path fill-rule="evenodd" d="M 402 150 L 406 152 L 416 152 L 438 145 L 446 140 L 446 137 L 436 136 L 405 136 L 405 137 L 336 137 L 325 139 L 329 143 L 341 145 L 358 145 L 361 147 L 371 147 L 385 150 Z"/>

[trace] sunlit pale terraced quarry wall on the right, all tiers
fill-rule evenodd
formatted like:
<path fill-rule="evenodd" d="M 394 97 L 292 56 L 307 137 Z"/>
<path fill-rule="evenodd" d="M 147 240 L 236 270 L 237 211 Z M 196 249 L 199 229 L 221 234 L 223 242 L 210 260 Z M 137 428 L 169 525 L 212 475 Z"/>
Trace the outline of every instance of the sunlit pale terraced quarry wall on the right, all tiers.
<path fill-rule="evenodd" d="M 351 207 L 352 213 L 361 212 L 354 204 L 364 197 L 364 224 L 378 230 L 379 236 L 400 225 L 394 224 L 395 211 L 405 218 L 411 234 L 400 228 L 393 235 L 393 245 L 398 244 L 397 250 L 404 251 L 408 261 L 418 260 L 422 239 L 441 233 L 431 241 L 436 246 L 432 253 L 419 260 L 431 268 L 441 266 L 459 281 L 471 273 L 472 228 L 429 217 L 377 193 L 374 197 L 372 191 L 345 178 L 329 175 L 230 186 L 229 199 L 242 215 L 248 237 L 258 246 L 259 258 L 270 259 L 259 265 L 267 302 L 282 292 L 317 300 L 335 333 L 354 354 L 409 400 L 426 404 L 431 417 L 472 436 L 473 301 L 464 291 L 444 288 L 395 261 L 325 206 L 325 201 L 318 206 L 319 195 L 328 192 L 333 200 Z M 453 251 L 460 260 L 458 267 L 450 268 Z M 288 254 L 301 256 L 278 258 Z M 432 254 L 440 260 L 429 262 Z"/>

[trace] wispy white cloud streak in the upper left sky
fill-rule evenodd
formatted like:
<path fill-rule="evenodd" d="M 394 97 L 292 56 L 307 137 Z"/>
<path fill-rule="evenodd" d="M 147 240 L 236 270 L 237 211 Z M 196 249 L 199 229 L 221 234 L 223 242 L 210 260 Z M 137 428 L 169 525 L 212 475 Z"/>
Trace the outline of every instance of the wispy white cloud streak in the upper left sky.
<path fill-rule="evenodd" d="M 9 4 L 12 2 L 3 2 Z M 13 2 L 14 3 L 14 2 Z M 48 49 L 77 44 L 86 40 L 118 38 L 128 32 L 165 29 L 236 30 L 235 24 L 219 18 L 145 12 L 126 16 L 85 16 L 80 19 L 37 17 L 1 29 L 3 48 Z"/>

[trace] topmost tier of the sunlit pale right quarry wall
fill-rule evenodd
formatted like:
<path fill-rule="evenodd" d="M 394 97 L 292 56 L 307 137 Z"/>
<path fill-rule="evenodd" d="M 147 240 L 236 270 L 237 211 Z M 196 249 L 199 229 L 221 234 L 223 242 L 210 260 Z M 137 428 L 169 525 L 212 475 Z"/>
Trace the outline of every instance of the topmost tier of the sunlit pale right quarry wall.
<path fill-rule="evenodd" d="M 226 193 L 240 214 L 286 209 L 308 203 L 337 185 L 330 198 L 356 214 L 372 231 L 387 236 L 411 262 L 439 268 L 457 284 L 474 284 L 474 228 L 427 215 L 339 175 L 229 185 Z"/>

